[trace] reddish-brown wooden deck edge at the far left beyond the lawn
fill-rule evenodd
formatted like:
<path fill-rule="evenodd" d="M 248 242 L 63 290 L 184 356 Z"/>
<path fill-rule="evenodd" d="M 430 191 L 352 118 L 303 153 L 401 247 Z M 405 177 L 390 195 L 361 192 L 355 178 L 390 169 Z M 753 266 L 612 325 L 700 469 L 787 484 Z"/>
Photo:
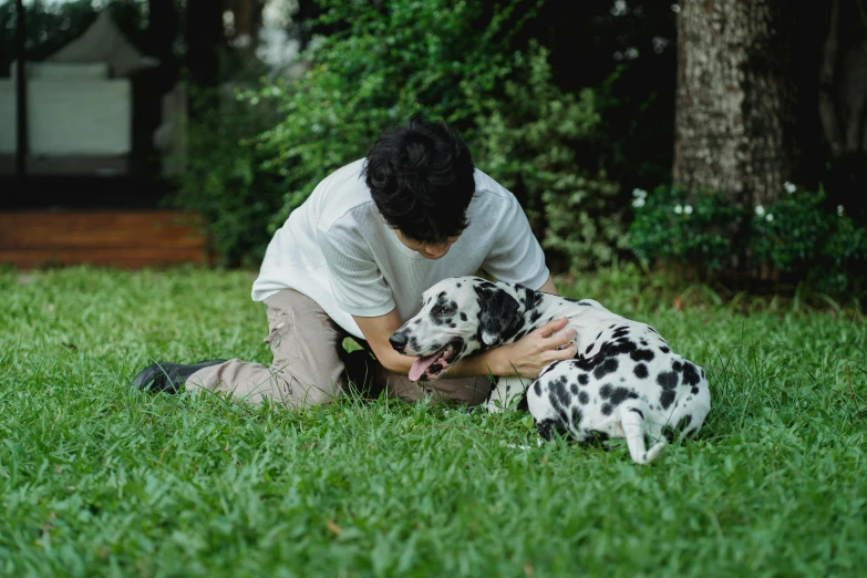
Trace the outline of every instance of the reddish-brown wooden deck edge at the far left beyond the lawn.
<path fill-rule="evenodd" d="M 189 215 L 175 210 L 0 213 L 0 264 L 21 269 L 91 264 L 138 269 L 209 260 Z"/>

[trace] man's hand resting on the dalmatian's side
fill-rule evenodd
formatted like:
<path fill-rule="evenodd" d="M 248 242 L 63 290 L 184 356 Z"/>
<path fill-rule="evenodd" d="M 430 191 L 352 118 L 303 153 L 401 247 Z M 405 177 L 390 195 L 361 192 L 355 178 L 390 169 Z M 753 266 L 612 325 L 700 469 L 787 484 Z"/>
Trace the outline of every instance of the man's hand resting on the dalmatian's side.
<path fill-rule="evenodd" d="M 567 319 L 548 321 L 539 329 L 527 333 L 515 343 L 500 345 L 495 350 L 500 355 L 500 375 L 514 375 L 535 380 L 548 364 L 572 359 L 578 345 L 571 343 L 577 337 L 574 329 L 554 336 L 566 327 Z M 562 349 L 558 349 L 562 348 Z"/>

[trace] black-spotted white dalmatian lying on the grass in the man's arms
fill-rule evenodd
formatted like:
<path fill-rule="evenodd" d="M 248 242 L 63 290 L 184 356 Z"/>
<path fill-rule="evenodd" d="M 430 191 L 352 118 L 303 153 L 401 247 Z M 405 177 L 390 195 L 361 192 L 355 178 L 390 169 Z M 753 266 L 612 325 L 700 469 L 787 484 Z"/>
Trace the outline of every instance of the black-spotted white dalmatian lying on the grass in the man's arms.
<path fill-rule="evenodd" d="M 419 313 L 390 342 L 399 353 L 419 358 L 411 380 L 437 379 L 462 358 L 517 341 L 564 317 L 561 331 L 577 333 L 576 358 L 549 364 L 526 386 L 517 376 L 500 378 L 486 402 L 488 411 L 528 409 L 545 440 L 555 432 L 579 442 L 625 437 L 639 464 L 660 455 L 665 433 L 683 437 L 699 431 L 711 410 L 704 370 L 674 353 L 652 327 L 592 299 L 453 277 L 424 292 Z"/>

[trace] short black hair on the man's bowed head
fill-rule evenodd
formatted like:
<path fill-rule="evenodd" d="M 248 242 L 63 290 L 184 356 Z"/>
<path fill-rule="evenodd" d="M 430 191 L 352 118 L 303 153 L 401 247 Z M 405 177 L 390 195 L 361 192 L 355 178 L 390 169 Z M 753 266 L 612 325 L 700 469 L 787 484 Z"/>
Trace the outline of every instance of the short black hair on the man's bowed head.
<path fill-rule="evenodd" d="M 469 225 L 475 194 L 473 158 L 456 130 L 413 114 L 368 151 L 363 175 L 390 227 L 405 237 L 438 244 Z"/>

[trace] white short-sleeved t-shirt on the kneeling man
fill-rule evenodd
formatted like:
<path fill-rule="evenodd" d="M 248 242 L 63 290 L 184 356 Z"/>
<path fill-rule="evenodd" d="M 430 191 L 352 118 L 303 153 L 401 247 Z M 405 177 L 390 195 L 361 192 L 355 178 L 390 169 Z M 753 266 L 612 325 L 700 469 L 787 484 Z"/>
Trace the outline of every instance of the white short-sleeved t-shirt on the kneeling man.
<path fill-rule="evenodd" d="M 363 339 L 352 316 L 379 317 L 396 307 L 415 314 L 436 282 L 479 269 L 502 281 L 538 289 L 548 279 L 545 255 L 515 196 L 475 171 L 469 226 L 448 254 L 425 259 L 401 242 L 361 176 L 364 159 L 328 176 L 289 215 L 265 254 L 254 301 L 295 289 L 319 303 L 350 334 Z"/>

